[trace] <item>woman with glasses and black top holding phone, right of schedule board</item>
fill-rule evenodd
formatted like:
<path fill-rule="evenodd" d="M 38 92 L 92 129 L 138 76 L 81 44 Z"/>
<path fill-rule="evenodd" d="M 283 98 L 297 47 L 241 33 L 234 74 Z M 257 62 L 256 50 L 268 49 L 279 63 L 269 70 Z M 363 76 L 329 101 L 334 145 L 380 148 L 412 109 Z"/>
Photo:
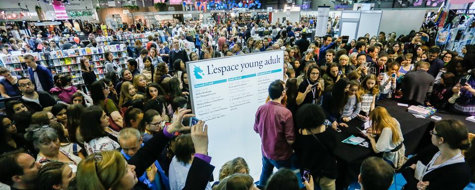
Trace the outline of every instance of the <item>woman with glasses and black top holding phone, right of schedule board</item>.
<path fill-rule="evenodd" d="M 317 64 L 309 65 L 305 79 L 298 86 L 297 105 L 319 103 L 324 88 L 323 79 L 320 77 L 320 68 Z"/>

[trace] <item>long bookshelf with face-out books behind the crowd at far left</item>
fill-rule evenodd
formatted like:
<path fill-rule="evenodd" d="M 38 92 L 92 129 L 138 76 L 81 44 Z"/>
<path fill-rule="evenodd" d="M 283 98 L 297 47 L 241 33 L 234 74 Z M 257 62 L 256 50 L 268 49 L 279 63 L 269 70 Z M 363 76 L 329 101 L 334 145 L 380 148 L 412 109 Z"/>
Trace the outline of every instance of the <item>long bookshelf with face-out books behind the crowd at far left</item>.
<path fill-rule="evenodd" d="M 23 57 L 27 54 L 33 55 L 39 65 L 48 68 L 51 74 L 68 74 L 73 78 L 73 85 L 82 85 L 80 59 L 87 57 L 89 63 L 96 74 L 97 80 L 104 78 L 105 59 L 104 52 L 111 51 L 113 60 L 122 68 L 127 64 L 127 47 L 124 44 L 103 46 L 103 47 L 84 47 L 67 50 L 57 50 L 49 52 L 33 52 L 20 55 L 7 55 L 1 57 L 5 67 L 13 73 L 23 77 L 29 77 L 28 67 Z"/>

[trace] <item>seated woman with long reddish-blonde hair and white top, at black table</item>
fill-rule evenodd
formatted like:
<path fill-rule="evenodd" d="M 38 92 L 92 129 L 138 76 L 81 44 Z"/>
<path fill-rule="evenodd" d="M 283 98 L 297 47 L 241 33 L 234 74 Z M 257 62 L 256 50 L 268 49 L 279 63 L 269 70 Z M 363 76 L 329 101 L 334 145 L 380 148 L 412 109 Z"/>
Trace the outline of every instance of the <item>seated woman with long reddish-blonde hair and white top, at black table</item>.
<path fill-rule="evenodd" d="M 402 143 L 401 126 L 391 117 L 386 108 L 378 106 L 370 113 L 371 128 L 367 130 L 371 147 L 376 153 L 382 152 L 382 158 L 394 168 L 399 168 L 406 161 L 406 148 Z"/>

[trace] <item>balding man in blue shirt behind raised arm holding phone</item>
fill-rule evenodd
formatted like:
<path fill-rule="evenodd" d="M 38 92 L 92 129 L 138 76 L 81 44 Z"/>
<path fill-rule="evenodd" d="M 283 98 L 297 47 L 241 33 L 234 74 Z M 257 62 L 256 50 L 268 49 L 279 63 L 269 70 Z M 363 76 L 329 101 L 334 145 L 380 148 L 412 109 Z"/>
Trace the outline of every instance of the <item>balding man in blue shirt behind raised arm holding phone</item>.
<path fill-rule="evenodd" d="M 118 140 L 122 147 L 120 153 L 124 155 L 127 160 L 134 156 L 143 146 L 142 134 L 140 134 L 139 130 L 132 127 L 122 129 L 119 133 Z M 156 160 L 139 178 L 139 182 L 140 185 L 144 185 L 150 190 L 170 190 L 168 178 Z"/>

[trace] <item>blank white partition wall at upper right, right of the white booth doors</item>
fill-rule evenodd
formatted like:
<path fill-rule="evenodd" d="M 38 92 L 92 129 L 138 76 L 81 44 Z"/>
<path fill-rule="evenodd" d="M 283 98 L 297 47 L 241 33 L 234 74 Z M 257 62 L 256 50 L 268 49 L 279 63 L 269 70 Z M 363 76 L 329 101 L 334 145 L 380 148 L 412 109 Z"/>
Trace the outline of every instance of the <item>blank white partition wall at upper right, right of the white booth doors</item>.
<path fill-rule="evenodd" d="M 427 11 L 436 11 L 436 9 L 383 10 L 379 32 L 385 32 L 386 35 L 395 32 L 399 36 L 407 35 L 411 30 L 417 31 L 421 27 Z"/>

